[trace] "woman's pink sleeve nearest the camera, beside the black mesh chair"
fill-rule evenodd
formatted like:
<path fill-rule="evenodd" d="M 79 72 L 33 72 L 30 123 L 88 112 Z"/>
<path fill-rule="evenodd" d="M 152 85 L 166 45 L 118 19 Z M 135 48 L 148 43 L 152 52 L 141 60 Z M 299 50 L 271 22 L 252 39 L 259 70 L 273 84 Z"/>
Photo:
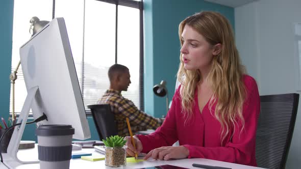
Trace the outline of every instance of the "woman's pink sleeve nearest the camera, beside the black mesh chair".
<path fill-rule="evenodd" d="M 207 158 L 240 164 L 252 164 L 252 161 L 255 161 L 255 137 L 260 113 L 260 97 L 253 78 L 245 85 L 248 97 L 243 104 L 245 121 L 243 130 L 241 131 L 242 124 L 238 123 L 232 139 L 224 147 L 183 145 L 189 150 L 188 158 Z"/>

